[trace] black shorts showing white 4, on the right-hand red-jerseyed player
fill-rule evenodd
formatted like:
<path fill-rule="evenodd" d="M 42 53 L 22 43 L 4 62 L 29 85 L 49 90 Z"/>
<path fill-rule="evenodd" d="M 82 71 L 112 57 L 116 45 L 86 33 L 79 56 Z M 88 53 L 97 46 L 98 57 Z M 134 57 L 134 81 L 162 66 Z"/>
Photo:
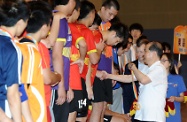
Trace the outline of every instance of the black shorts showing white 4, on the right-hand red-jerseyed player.
<path fill-rule="evenodd" d="M 77 112 L 77 117 L 86 117 L 88 115 L 88 106 L 90 104 L 90 101 L 88 100 L 85 80 L 81 78 L 81 82 L 82 82 L 83 99 L 82 101 L 79 102 L 79 104 L 82 106 L 82 110 L 81 112 Z"/>

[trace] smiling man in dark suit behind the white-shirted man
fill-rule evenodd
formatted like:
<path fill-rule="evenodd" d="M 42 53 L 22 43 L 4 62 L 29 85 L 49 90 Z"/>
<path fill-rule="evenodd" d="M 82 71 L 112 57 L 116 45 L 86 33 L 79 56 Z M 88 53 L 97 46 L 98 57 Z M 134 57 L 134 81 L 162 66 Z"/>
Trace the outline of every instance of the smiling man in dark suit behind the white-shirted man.
<path fill-rule="evenodd" d="M 137 59 L 133 61 L 136 67 L 141 72 L 146 72 L 148 66 L 144 63 L 145 58 L 145 47 L 149 43 L 149 41 L 144 37 L 141 36 L 136 41 L 136 54 Z M 128 69 L 128 64 L 125 66 L 124 75 L 130 75 L 131 71 Z M 133 83 L 124 83 L 123 85 L 123 108 L 125 114 L 130 114 L 131 106 L 133 102 L 138 99 L 139 94 L 139 82 L 135 81 Z M 132 122 L 134 122 L 134 116 L 132 116 Z"/>

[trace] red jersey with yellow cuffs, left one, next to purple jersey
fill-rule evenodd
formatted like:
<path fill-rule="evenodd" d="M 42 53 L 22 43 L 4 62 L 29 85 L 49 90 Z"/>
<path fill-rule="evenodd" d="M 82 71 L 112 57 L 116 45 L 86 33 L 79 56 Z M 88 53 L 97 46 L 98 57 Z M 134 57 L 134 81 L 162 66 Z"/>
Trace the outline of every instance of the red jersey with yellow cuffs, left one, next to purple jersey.
<path fill-rule="evenodd" d="M 76 27 L 76 23 L 69 23 L 72 35 L 71 56 L 70 62 L 74 62 L 80 58 L 78 43 L 83 40 L 80 30 Z M 73 90 L 82 90 L 81 75 L 79 73 L 79 66 L 77 64 L 70 65 L 70 80 L 69 86 Z"/>

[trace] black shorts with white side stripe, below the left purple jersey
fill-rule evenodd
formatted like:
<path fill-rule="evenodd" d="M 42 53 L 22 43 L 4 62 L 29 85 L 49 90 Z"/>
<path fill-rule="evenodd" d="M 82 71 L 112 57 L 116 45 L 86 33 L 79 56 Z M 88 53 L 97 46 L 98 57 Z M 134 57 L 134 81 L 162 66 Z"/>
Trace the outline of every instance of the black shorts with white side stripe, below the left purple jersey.
<path fill-rule="evenodd" d="M 57 105 L 55 103 L 58 98 L 57 90 L 52 90 L 52 109 L 54 114 L 55 122 L 67 122 L 69 116 L 69 103 L 66 101 L 62 105 Z"/>

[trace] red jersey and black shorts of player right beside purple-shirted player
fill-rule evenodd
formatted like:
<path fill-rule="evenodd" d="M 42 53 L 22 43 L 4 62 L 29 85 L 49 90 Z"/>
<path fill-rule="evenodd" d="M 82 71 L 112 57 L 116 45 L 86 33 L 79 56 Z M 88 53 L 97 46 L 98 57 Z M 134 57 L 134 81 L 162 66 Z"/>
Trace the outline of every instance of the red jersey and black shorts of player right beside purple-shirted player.
<path fill-rule="evenodd" d="M 76 27 L 76 23 L 69 23 L 69 27 L 72 33 L 72 46 L 71 46 L 71 56 L 70 61 L 74 62 L 80 58 L 79 46 L 78 43 L 80 40 L 83 40 L 80 30 Z M 74 92 L 74 98 L 70 102 L 70 113 L 77 111 L 80 113 L 83 109 L 83 91 L 82 91 L 82 82 L 81 76 L 79 73 L 79 66 L 77 64 L 70 65 L 70 80 L 69 86 Z"/>

